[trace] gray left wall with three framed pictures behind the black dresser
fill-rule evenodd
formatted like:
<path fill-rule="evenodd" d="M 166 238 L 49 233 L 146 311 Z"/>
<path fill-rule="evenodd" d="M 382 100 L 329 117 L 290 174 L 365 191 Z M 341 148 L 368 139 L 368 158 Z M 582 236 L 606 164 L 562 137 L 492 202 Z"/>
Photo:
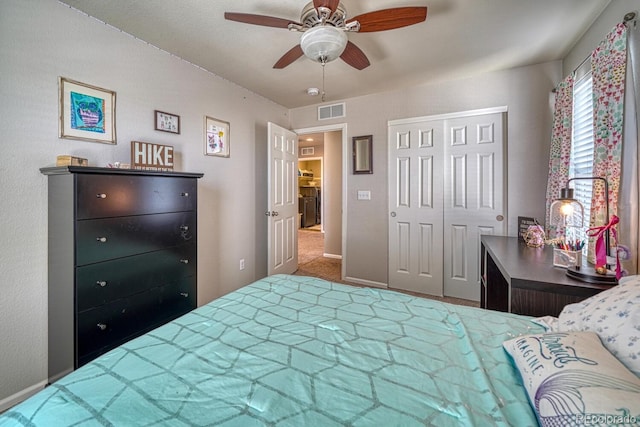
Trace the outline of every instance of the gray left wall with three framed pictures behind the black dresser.
<path fill-rule="evenodd" d="M 198 302 L 266 275 L 267 121 L 288 111 L 55 0 L 0 2 L 0 408 L 47 377 L 47 180 L 59 154 L 128 162 L 130 141 L 174 146 L 199 181 Z M 58 76 L 116 92 L 117 145 L 58 139 Z M 154 130 L 155 109 L 182 132 Z M 204 116 L 231 123 L 231 157 L 205 156 Z M 239 259 L 246 269 L 239 271 Z"/>

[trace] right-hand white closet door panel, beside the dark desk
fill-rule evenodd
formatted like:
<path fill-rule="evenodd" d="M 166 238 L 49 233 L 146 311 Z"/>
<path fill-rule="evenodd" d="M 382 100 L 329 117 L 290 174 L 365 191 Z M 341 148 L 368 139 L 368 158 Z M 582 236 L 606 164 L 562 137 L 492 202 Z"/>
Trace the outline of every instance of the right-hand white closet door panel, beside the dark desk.
<path fill-rule="evenodd" d="M 505 235 L 503 114 L 444 121 L 444 294 L 480 299 L 480 236 Z M 464 232 L 463 232 L 464 230 Z"/>

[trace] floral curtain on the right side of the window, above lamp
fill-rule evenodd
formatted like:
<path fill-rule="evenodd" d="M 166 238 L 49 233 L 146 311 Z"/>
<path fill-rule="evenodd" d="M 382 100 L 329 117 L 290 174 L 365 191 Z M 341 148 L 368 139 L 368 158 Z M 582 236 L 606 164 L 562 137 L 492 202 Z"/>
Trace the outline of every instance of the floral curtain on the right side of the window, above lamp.
<path fill-rule="evenodd" d="M 607 180 L 609 200 L 605 201 L 603 183 L 599 180 L 594 181 L 590 224 L 606 223 L 606 203 L 609 205 L 610 217 L 617 215 L 626 64 L 627 27 L 620 23 L 591 54 L 594 109 L 593 176 Z M 589 245 L 590 254 L 594 246 Z"/>

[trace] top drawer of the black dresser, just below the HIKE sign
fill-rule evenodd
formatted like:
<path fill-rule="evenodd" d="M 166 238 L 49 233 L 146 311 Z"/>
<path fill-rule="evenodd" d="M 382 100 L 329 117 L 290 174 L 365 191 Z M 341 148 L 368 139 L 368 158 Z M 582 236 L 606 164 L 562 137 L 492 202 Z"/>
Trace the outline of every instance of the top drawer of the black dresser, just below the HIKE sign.
<path fill-rule="evenodd" d="M 191 211 L 197 207 L 194 178 L 83 174 L 76 179 L 76 219 Z"/>

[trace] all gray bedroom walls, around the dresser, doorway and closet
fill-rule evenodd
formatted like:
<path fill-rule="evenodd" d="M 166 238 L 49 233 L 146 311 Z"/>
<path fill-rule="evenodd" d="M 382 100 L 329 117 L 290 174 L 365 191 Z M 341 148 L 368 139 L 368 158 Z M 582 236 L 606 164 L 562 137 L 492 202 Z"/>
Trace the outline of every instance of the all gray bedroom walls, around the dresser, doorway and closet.
<path fill-rule="evenodd" d="M 599 41 L 633 9 L 637 0 L 611 2 L 567 58 L 592 50 L 591 40 Z M 173 145 L 176 169 L 205 173 L 198 218 L 202 304 L 266 275 L 266 122 L 301 129 L 345 121 L 319 123 L 315 107 L 293 110 L 290 119 L 285 108 L 55 0 L 0 1 L 0 58 L 0 407 L 46 379 L 47 182 L 38 168 L 59 154 L 98 166 L 127 161 L 132 140 Z M 344 177 L 347 275 L 387 280 L 388 120 L 508 106 L 510 234 L 518 215 L 541 217 L 549 92 L 563 74 L 560 62 L 552 62 L 347 100 L 346 139 L 374 136 L 374 174 Z M 117 92 L 116 146 L 58 139 L 58 76 Z M 182 133 L 154 131 L 154 109 L 180 115 Z M 229 159 L 202 154 L 204 115 L 231 123 Z M 357 201 L 357 190 L 371 190 L 372 199 Z"/>

